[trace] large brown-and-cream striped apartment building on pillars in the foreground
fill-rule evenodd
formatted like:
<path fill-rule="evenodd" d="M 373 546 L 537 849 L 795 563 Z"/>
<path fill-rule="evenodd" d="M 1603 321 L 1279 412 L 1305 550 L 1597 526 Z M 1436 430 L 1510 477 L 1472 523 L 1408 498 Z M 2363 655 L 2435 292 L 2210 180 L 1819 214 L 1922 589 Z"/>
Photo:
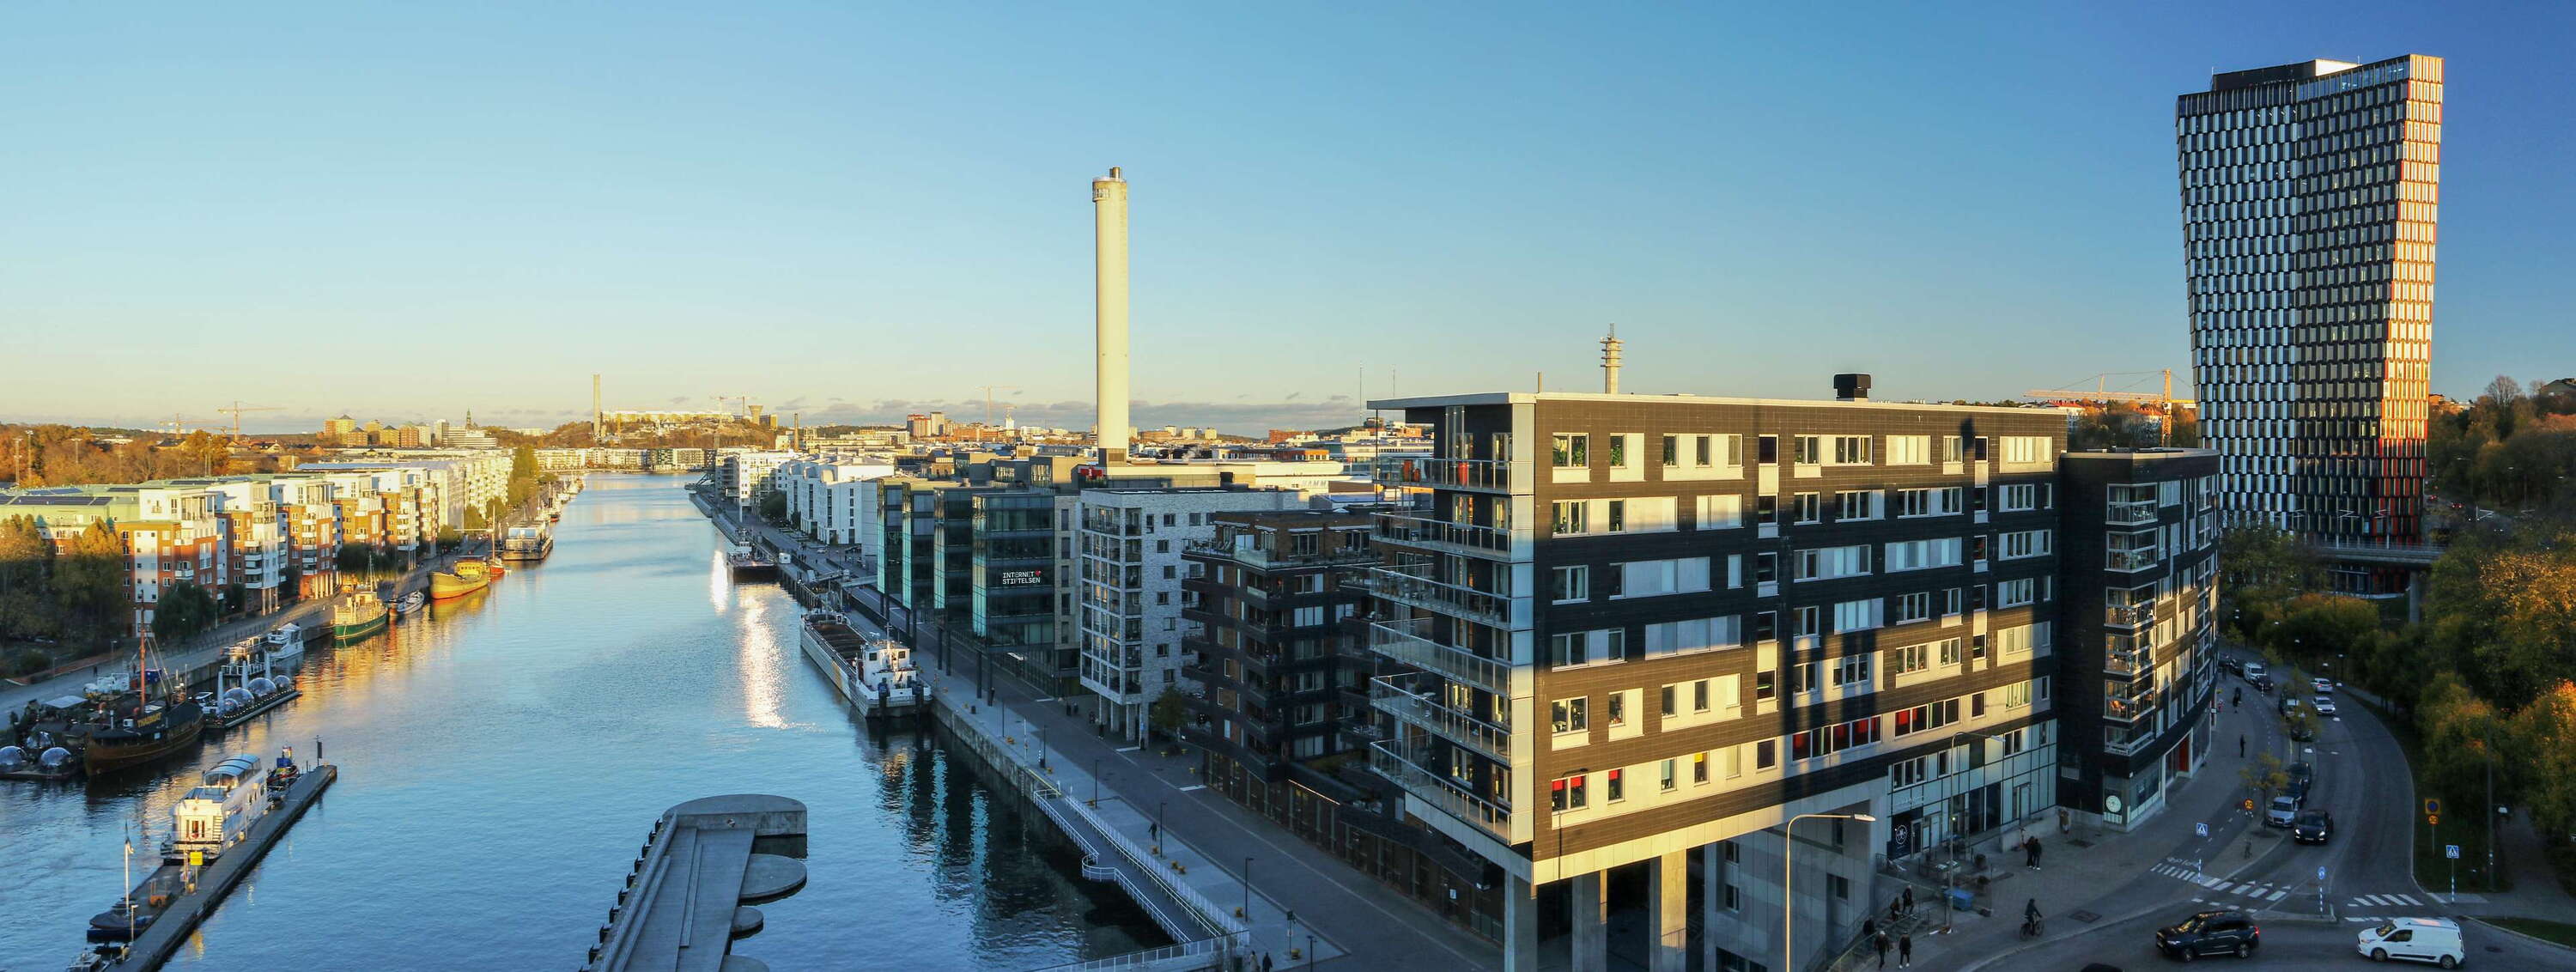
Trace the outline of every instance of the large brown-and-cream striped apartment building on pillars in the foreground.
<path fill-rule="evenodd" d="M 1780 967 L 1785 830 L 1844 815 L 1795 830 L 1803 964 L 1878 853 L 2056 807 L 2066 425 L 1865 389 L 1373 402 L 1432 459 L 1381 518 L 1370 766 L 1494 866 L 1507 967 L 1540 928 L 1605 967 L 1620 905 L 1654 969 Z"/>

